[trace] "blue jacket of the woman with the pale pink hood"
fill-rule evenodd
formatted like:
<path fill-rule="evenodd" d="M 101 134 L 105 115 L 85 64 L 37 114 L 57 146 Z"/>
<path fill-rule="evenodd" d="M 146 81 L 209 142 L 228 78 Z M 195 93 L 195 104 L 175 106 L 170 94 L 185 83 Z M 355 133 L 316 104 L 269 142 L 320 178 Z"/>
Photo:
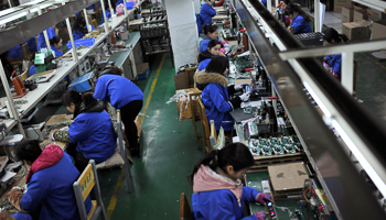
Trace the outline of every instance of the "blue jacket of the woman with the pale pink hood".
<path fill-rule="evenodd" d="M 234 219 L 258 220 L 256 216 L 243 218 L 244 201 L 255 201 L 259 191 L 253 187 L 243 187 L 240 205 L 229 189 L 201 191 L 192 195 L 192 208 L 195 220 Z"/>

